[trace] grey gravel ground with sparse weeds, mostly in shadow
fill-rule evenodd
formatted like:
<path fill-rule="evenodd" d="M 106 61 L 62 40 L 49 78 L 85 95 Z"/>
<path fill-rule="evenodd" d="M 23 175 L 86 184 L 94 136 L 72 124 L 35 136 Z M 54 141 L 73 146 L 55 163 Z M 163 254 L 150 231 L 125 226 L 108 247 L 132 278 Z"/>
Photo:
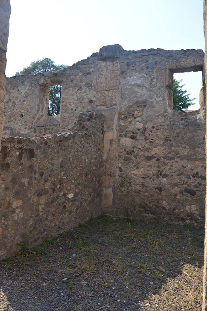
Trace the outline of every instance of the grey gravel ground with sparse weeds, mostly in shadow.
<path fill-rule="evenodd" d="M 0 263 L 4 311 L 198 311 L 204 229 L 99 217 Z"/>

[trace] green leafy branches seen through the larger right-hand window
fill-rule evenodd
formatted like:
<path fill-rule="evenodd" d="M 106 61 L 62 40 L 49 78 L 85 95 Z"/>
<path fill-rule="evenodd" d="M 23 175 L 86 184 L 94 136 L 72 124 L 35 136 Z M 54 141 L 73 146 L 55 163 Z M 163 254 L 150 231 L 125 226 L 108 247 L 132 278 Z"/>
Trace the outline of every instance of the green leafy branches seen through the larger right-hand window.
<path fill-rule="evenodd" d="M 170 90 L 173 93 L 173 109 L 183 111 L 189 106 L 194 105 L 195 98 L 190 99 L 190 94 L 186 94 L 187 90 L 183 90 L 185 84 L 180 85 L 182 80 L 173 80 L 173 88 Z"/>

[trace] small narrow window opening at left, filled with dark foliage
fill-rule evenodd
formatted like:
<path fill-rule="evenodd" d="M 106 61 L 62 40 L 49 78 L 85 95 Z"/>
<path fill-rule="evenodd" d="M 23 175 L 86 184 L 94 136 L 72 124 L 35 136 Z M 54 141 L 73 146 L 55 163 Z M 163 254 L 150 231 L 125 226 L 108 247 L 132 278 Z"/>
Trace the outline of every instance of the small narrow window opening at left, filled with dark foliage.
<path fill-rule="evenodd" d="M 61 111 L 61 84 L 49 86 L 49 100 L 47 115 L 53 116 L 60 114 Z"/>

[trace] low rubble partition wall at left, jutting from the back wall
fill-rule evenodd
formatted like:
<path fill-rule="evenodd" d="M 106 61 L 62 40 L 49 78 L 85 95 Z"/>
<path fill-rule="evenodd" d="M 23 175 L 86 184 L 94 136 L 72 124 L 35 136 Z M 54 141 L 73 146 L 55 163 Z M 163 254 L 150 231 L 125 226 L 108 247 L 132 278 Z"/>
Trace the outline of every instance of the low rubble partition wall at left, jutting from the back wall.
<path fill-rule="evenodd" d="M 80 115 L 78 132 L 2 138 L 0 259 L 25 234 L 34 245 L 101 213 L 103 118 Z"/>

